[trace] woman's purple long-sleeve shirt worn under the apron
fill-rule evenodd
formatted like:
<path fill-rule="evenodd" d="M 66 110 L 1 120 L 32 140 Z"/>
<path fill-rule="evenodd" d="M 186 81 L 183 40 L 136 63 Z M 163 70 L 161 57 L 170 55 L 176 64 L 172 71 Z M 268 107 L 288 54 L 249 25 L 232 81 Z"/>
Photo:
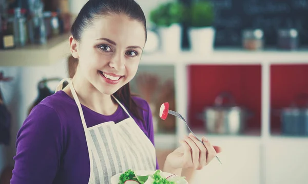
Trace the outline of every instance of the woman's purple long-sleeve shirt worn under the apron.
<path fill-rule="evenodd" d="M 154 145 L 149 105 L 141 98 L 133 99 L 146 109 L 142 110 L 145 126 L 130 114 Z M 87 127 L 128 118 L 120 105 L 111 116 L 83 105 L 82 109 Z M 12 184 L 88 183 L 90 162 L 84 129 L 75 101 L 64 91 L 57 91 L 32 109 L 17 133 L 16 148 Z"/>

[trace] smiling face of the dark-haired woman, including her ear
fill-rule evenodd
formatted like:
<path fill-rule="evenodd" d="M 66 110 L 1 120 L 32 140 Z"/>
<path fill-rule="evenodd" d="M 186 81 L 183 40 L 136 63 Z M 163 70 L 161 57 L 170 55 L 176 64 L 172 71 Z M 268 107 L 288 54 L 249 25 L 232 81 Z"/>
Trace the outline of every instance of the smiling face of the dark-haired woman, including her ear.
<path fill-rule="evenodd" d="M 136 75 L 145 30 L 137 20 L 110 14 L 97 18 L 86 28 L 80 42 L 72 38 L 70 41 L 73 56 L 79 58 L 76 75 L 82 75 L 101 93 L 110 95 Z"/>

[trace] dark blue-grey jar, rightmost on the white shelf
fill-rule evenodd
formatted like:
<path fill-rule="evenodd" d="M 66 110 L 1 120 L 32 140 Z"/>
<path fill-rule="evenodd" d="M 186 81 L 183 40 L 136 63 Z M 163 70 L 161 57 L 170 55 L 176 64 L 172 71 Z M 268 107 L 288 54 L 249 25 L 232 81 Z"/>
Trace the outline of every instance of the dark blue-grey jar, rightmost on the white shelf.
<path fill-rule="evenodd" d="M 298 48 L 298 32 L 296 29 L 278 30 L 277 44 L 279 49 L 295 50 Z"/>

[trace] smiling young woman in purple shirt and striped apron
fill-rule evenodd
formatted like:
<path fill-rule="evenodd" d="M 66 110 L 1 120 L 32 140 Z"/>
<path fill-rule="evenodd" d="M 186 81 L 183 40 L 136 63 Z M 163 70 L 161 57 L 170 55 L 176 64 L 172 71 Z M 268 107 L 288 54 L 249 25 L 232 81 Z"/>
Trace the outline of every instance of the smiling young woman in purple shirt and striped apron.
<path fill-rule="evenodd" d="M 145 16 L 133 0 L 85 4 L 69 37 L 76 73 L 18 132 L 12 184 L 109 183 L 128 169 L 159 169 L 149 105 L 129 90 L 145 42 Z M 202 140 L 186 136 L 160 169 L 202 169 L 220 152 Z"/>

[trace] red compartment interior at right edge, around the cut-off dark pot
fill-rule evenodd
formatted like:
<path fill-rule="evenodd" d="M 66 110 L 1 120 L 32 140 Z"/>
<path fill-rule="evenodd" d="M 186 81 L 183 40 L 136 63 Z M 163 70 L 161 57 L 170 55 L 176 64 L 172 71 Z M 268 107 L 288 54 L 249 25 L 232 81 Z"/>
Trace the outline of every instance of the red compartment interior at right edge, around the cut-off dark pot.
<path fill-rule="evenodd" d="M 291 107 L 292 103 L 305 106 L 308 100 L 308 63 L 307 64 L 273 64 L 271 65 L 271 134 L 280 135 L 282 121 L 281 109 Z M 306 99 L 296 99 L 298 95 L 307 94 Z M 302 97 L 301 97 L 302 98 Z M 294 135 L 297 137 L 296 135 Z M 286 137 L 292 137 L 287 135 Z M 302 137 L 299 135 L 299 137 Z M 307 135 L 308 137 L 308 135 Z"/>

